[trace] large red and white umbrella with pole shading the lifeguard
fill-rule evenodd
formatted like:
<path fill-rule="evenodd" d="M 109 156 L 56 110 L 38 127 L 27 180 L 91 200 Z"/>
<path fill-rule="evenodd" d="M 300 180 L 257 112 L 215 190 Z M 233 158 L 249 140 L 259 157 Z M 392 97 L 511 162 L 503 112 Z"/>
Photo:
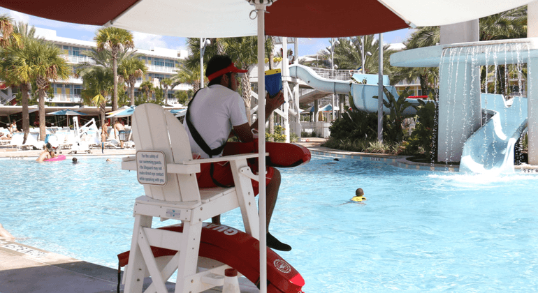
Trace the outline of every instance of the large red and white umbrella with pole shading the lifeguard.
<path fill-rule="evenodd" d="M 0 0 L 0 6 L 63 22 L 106 24 L 166 36 L 258 36 L 258 76 L 264 76 L 265 35 L 299 38 L 363 36 L 406 27 L 475 20 L 532 1 L 488 0 L 486 5 L 483 0 Z M 258 89 L 258 114 L 264 117 L 263 78 L 259 79 Z M 263 159 L 265 128 L 263 119 L 259 119 L 260 170 L 266 167 Z M 259 179 L 260 284 L 266 284 L 266 250 L 263 249 L 266 248 L 266 181 L 263 172 Z M 263 293 L 267 288 L 261 286 L 260 289 Z"/>

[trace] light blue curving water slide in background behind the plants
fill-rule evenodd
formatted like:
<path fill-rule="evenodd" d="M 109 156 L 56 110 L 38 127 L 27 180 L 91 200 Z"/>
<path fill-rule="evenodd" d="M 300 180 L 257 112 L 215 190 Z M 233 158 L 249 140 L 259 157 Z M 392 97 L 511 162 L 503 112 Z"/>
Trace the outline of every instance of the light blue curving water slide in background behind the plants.
<path fill-rule="evenodd" d="M 313 89 L 318 91 L 325 91 L 327 93 L 340 93 L 348 95 L 351 92 L 353 97 L 353 103 L 358 109 L 367 111 L 367 112 L 377 112 L 377 98 L 372 98 L 378 94 L 378 81 L 379 77 L 372 74 L 354 74 L 353 77 L 355 80 L 362 82 L 365 80 L 365 84 L 354 83 L 350 80 L 328 80 L 319 76 L 312 68 L 303 65 L 292 65 L 289 66 L 289 75 L 291 77 L 299 78 L 306 82 Z M 386 89 L 393 94 L 395 98 L 398 98 L 398 93 L 396 92 L 395 87 L 388 84 L 388 76 L 383 76 L 383 84 Z M 383 98 L 387 100 L 385 93 L 383 93 Z M 406 99 L 412 105 L 419 105 L 419 99 L 408 98 Z M 390 114 L 390 110 L 387 107 L 383 107 L 383 112 L 385 114 Z M 414 114 L 414 107 L 407 107 L 404 111 L 404 114 Z"/>

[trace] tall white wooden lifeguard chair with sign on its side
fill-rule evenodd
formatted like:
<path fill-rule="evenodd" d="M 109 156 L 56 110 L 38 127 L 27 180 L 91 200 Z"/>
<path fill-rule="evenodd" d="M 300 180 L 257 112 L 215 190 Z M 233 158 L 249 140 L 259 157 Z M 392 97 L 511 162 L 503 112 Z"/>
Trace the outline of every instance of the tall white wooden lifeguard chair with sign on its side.
<path fill-rule="evenodd" d="M 259 216 L 251 179 L 257 179 L 247 158 L 257 153 L 193 160 L 184 127 L 163 107 L 144 104 L 133 114 L 136 157 L 125 158 L 122 169 L 135 170 L 145 195 L 136 199 L 135 223 L 124 271 L 124 292 L 142 292 L 145 276 L 152 277 L 146 292 L 167 293 L 165 283 L 177 270 L 175 293 L 203 292 L 223 285 L 226 264 L 198 271 L 198 250 L 204 220 L 240 207 L 245 232 L 259 239 Z M 201 163 L 228 160 L 235 187 L 198 188 Z M 183 232 L 152 228 L 153 218 L 181 220 Z M 177 250 L 166 262 L 156 260 L 151 246 Z"/>

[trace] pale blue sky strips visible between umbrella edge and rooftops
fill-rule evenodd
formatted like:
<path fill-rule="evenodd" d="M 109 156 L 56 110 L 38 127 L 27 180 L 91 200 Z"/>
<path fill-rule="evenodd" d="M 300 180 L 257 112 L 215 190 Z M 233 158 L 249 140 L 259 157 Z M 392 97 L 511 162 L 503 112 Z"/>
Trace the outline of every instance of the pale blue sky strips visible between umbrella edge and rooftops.
<path fill-rule="evenodd" d="M 0 7 L 0 15 L 3 14 L 9 15 L 17 22 L 26 22 L 30 26 L 52 29 L 56 31 L 57 36 L 64 38 L 94 41 L 95 31 L 99 29 L 98 26 L 57 22 Z M 383 43 L 402 43 L 412 31 L 412 29 L 400 29 L 383 33 Z M 135 47 L 138 49 L 150 50 L 150 47 L 164 47 L 174 50 L 187 50 L 185 38 L 158 36 L 136 31 L 132 31 L 132 33 Z M 299 38 L 299 56 L 313 55 L 329 46 L 330 38 Z M 293 50 L 293 45 L 288 47 Z"/>

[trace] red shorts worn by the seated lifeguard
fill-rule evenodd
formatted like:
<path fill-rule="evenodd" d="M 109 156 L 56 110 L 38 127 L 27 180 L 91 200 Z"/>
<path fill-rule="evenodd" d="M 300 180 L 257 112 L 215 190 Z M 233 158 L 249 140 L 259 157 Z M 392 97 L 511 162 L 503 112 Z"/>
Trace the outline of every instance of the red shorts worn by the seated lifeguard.
<path fill-rule="evenodd" d="M 254 174 L 258 171 L 258 164 L 257 163 L 248 163 L 250 169 Z M 213 179 L 211 179 L 210 174 L 210 163 L 203 163 L 200 166 L 201 172 L 196 173 L 196 179 L 198 179 L 198 187 L 201 188 L 208 188 L 208 187 L 217 187 L 217 184 L 213 182 L 213 179 L 215 179 L 217 182 L 219 182 L 221 185 L 224 186 L 233 186 L 233 175 L 230 167 L 229 162 L 217 162 L 213 163 Z M 266 186 L 269 184 L 269 182 L 272 179 L 272 175 L 275 174 L 275 169 L 272 167 L 266 167 L 267 174 L 266 174 Z M 254 189 L 254 195 L 258 195 L 258 181 L 252 180 L 252 189 Z"/>

